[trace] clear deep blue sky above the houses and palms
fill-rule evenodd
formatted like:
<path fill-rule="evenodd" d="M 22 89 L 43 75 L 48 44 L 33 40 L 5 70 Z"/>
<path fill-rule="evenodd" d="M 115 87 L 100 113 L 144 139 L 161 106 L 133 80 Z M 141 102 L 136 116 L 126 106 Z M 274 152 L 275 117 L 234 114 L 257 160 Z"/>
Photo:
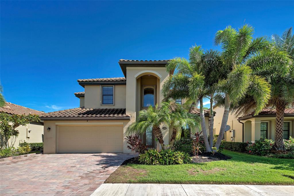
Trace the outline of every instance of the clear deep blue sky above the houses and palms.
<path fill-rule="evenodd" d="M 79 106 L 80 78 L 122 77 L 118 60 L 187 57 L 218 30 L 255 36 L 293 26 L 294 1 L 1 1 L 1 82 L 8 102 Z"/>

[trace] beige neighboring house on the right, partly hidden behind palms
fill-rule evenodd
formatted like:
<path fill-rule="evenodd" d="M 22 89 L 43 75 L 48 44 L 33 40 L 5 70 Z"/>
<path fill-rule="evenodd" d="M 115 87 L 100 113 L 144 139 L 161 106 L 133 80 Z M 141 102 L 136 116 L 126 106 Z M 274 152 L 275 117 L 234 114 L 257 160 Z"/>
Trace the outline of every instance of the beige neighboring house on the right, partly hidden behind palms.
<path fill-rule="evenodd" d="M 223 118 L 223 107 L 215 107 L 213 111 L 216 112 L 214 117 L 213 131 L 218 134 Z M 254 142 L 260 137 L 275 140 L 275 109 L 263 109 L 258 115 L 254 116 L 254 112 L 250 114 L 243 114 L 235 116 L 229 114 L 227 125 L 230 129 L 225 132 L 225 141 L 235 142 Z M 294 136 L 294 107 L 285 109 L 283 137 L 288 139 L 289 136 Z"/>

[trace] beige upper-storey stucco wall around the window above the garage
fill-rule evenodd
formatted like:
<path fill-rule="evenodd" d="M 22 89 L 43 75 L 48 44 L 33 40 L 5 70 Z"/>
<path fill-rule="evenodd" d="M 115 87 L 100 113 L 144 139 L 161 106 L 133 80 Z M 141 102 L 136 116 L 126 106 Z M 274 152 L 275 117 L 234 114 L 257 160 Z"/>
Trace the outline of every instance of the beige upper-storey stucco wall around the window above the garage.
<path fill-rule="evenodd" d="M 126 85 L 114 86 L 114 105 L 101 105 L 100 91 L 100 85 L 85 85 L 85 108 L 126 108 Z"/>

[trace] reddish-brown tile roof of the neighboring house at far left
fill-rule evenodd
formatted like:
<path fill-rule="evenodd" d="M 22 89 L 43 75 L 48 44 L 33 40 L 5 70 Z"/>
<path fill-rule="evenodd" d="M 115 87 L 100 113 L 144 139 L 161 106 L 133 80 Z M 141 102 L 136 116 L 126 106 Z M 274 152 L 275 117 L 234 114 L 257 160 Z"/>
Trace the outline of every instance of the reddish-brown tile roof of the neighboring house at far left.
<path fill-rule="evenodd" d="M 7 114 L 37 114 L 37 115 L 45 114 L 45 112 L 43 111 L 34 110 L 31 108 L 23 107 L 23 106 L 16 105 L 10 102 L 5 102 L 5 106 L 0 107 L 0 112 L 5 112 Z"/>

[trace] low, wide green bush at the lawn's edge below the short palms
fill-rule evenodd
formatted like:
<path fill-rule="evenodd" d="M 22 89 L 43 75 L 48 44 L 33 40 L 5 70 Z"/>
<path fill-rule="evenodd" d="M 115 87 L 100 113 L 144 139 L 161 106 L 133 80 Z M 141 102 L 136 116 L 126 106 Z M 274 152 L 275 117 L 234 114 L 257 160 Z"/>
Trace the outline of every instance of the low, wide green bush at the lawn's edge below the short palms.
<path fill-rule="evenodd" d="M 156 151 L 150 149 L 139 155 L 139 162 L 146 165 L 172 165 L 191 163 L 188 153 L 173 151 L 171 149 Z"/>

